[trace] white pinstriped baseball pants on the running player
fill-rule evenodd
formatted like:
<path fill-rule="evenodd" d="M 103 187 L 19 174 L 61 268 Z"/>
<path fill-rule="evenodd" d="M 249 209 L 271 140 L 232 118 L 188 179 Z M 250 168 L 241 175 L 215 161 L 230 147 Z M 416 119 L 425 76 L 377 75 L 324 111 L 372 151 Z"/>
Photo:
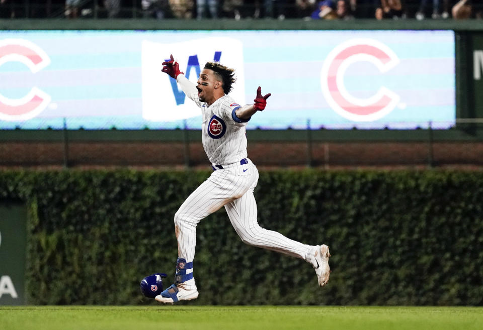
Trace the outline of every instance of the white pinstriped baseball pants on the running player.
<path fill-rule="evenodd" d="M 193 261 L 196 226 L 201 219 L 222 206 L 225 206 L 231 225 L 244 243 L 304 260 L 312 257 L 313 246 L 290 240 L 258 225 L 257 202 L 253 195 L 258 177 L 257 167 L 250 160 L 245 165 L 239 162 L 223 165 L 223 169 L 214 171 L 191 193 L 175 214 L 179 258 Z"/>

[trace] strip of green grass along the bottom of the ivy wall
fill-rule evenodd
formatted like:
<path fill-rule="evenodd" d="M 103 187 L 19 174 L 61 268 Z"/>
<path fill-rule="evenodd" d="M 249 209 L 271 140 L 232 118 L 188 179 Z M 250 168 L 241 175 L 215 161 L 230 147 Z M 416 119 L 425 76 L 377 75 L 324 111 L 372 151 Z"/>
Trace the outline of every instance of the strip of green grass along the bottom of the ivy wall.
<path fill-rule="evenodd" d="M 3 306 L 2 330 L 480 330 L 480 307 Z"/>

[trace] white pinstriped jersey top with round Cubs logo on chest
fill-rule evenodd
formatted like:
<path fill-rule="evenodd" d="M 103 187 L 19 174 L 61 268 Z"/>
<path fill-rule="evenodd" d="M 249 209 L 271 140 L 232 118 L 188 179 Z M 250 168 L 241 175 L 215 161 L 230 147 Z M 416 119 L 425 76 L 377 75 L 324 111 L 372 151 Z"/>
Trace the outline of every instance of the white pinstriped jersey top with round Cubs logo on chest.
<path fill-rule="evenodd" d="M 208 106 L 198 98 L 198 90 L 187 94 L 201 108 L 203 115 L 203 148 L 213 165 L 226 165 L 247 158 L 248 121 L 239 120 L 234 111 L 240 107 L 224 95 Z"/>

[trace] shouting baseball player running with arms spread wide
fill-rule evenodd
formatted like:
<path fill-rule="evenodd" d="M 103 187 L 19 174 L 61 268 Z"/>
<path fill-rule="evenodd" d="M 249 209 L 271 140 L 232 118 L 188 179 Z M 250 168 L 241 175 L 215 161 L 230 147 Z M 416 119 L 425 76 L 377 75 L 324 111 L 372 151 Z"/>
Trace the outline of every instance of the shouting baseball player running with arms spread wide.
<path fill-rule="evenodd" d="M 225 207 L 231 225 L 246 244 L 303 259 L 313 266 L 318 284 L 329 281 L 329 247 L 311 246 L 261 228 L 257 223 L 257 203 L 253 191 L 258 170 L 247 157 L 245 126 L 263 111 L 270 94 L 262 96 L 258 87 L 253 104 L 239 105 L 228 93 L 236 80 L 234 70 L 218 62 L 208 62 L 197 84 L 189 81 L 173 59 L 163 62 L 163 72 L 176 79 L 185 94 L 201 108 L 203 147 L 213 167 L 211 176 L 184 201 L 175 214 L 178 260 L 175 281 L 155 299 L 177 302 L 198 297 L 193 277 L 196 226 L 201 219 Z"/>

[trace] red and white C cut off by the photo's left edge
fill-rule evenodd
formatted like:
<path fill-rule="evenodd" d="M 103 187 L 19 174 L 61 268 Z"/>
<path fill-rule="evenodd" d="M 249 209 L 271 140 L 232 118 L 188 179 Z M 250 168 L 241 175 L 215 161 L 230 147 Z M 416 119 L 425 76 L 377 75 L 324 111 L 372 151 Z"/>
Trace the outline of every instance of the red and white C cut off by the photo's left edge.
<path fill-rule="evenodd" d="M 24 39 L 0 40 L 0 66 L 7 62 L 21 62 L 32 73 L 50 64 L 49 56 L 36 44 Z M 25 121 L 40 114 L 50 103 L 50 95 L 33 87 L 22 98 L 12 99 L 0 94 L 0 120 Z"/>

